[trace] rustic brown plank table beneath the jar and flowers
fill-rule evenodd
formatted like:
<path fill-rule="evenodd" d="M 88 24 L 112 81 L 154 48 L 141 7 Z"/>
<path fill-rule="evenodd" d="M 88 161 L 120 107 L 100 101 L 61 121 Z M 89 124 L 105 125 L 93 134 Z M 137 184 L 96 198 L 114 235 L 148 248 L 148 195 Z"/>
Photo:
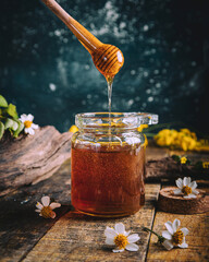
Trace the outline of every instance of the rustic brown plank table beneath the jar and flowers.
<path fill-rule="evenodd" d="M 162 150 L 147 152 L 148 158 L 165 155 Z M 70 162 L 66 162 L 51 178 L 0 198 L 0 261 L 209 261 L 209 213 L 176 215 L 158 211 L 161 187 L 162 182 L 146 184 L 146 203 L 133 216 L 87 217 L 71 207 Z M 35 213 L 35 204 L 44 194 L 62 204 L 56 210 L 54 219 L 45 219 Z M 156 236 L 142 230 L 146 226 L 161 234 L 164 223 L 174 218 L 189 229 L 188 249 L 167 251 L 157 243 Z M 104 243 L 106 226 L 116 222 L 139 234 L 139 251 L 113 253 Z"/>

